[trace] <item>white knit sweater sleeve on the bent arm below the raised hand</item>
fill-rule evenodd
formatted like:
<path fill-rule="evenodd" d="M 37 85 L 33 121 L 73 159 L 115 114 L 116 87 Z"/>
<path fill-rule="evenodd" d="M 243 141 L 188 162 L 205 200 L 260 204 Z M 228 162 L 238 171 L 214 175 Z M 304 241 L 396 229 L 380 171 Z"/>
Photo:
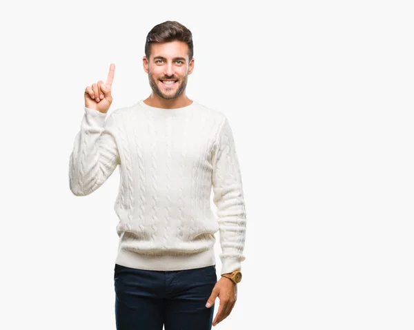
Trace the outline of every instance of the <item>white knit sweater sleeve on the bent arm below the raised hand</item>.
<path fill-rule="evenodd" d="M 115 114 L 106 116 L 85 107 L 69 161 L 69 186 L 76 196 L 95 192 L 121 163 L 114 134 Z"/>

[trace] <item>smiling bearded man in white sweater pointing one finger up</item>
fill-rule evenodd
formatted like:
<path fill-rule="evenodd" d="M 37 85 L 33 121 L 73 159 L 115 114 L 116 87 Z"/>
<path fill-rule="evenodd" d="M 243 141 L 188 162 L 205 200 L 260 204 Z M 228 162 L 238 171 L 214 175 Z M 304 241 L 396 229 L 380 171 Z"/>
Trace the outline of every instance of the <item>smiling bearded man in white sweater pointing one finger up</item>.
<path fill-rule="evenodd" d="M 235 305 L 245 259 L 246 211 L 232 130 L 222 112 L 186 96 L 194 59 L 192 34 L 184 25 L 155 25 L 143 64 L 152 93 L 108 118 L 115 65 L 106 83 L 86 87 L 70 155 L 70 189 L 77 196 L 91 194 L 120 165 L 118 330 L 211 329 Z M 210 209 L 212 187 L 217 217 Z"/>

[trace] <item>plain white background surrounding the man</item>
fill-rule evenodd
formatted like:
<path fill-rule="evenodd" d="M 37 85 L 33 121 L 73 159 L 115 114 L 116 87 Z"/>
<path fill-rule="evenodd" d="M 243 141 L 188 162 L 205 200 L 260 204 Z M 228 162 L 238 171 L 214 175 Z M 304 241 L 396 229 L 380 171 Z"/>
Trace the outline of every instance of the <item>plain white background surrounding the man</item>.
<path fill-rule="evenodd" d="M 2 5 L 0 328 L 115 329 L 119 169 L 77 197 L 69 156 L 86 86 L 115 63 L 110 112 L 146 98 L 146 34 L 177 20 L 187 94 L 228 116 L 244 183 L 244 279 L 215 329 L 413 329 L 410 5 Z"/>

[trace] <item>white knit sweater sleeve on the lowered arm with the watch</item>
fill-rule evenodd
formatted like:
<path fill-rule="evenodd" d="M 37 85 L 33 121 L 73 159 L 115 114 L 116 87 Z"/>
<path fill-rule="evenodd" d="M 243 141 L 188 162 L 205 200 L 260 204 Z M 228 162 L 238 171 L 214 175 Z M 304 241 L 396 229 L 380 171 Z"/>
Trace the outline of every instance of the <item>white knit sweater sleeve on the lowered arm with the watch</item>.
<path fill-rule="evenodd" d="M 213 154 L 213 201 L 217 207 L 221 274 L 241 269 L 246 235 L 246 210 L 235 141 L 224 118 Z"/>

